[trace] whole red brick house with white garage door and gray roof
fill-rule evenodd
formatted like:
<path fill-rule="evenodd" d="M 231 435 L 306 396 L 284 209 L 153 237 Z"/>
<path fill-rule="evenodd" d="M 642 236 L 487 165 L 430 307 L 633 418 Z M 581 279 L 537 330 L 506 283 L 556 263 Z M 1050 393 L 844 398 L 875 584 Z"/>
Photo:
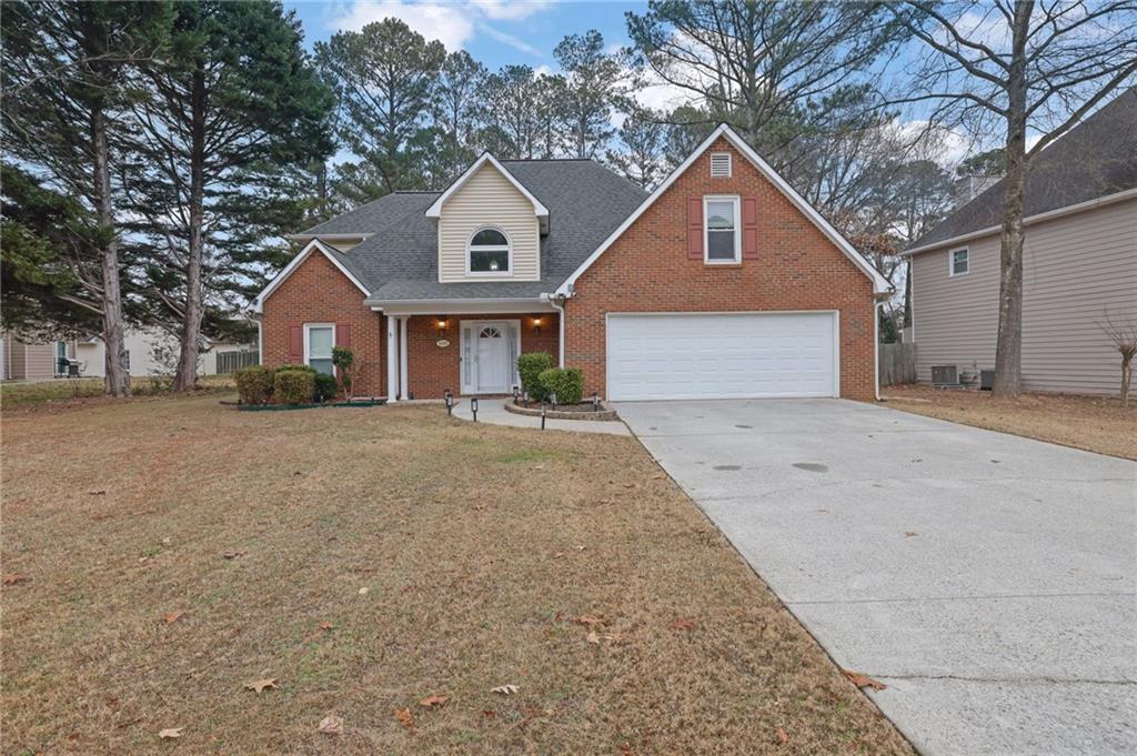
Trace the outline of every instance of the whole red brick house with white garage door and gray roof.
<path fill-rule="evenodd" d="M 548 351 L 614 400 L 875 396 L 888 282 L 730 127 L 650 194 L 592 160 L 485 153 L 297 236 L 254 302 L 266 365 L 357 394 L 503 394 Z"/>

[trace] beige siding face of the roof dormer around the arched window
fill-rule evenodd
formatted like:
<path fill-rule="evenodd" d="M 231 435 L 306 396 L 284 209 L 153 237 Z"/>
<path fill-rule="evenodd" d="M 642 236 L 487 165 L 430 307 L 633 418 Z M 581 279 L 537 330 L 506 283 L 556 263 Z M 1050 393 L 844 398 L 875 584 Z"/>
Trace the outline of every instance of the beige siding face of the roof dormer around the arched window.
<path fill-rule="evenodd" d="M 466 273 L 466 244 L 479 229 L 505 232 L 513 248 L 512 275 Z M 540 226 L 533 203 L 487 163 L 442 206 L 438 219 L 438 273 L 442 283 L 539 281 Z"/>

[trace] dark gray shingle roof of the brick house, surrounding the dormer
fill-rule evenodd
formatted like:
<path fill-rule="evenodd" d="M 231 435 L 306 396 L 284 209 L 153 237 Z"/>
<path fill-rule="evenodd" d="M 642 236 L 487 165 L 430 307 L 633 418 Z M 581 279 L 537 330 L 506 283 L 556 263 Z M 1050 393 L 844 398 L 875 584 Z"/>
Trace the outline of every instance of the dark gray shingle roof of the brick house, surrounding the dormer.
<path fill-rule="evenodd" d="M 396 192 L 304 232 L 371 234 L 337 258 L 373 299 L 536 298 L 556 289 L 647 197 L 592 160 L 501 160 L 549 209 L 541 281 L 438 282 L 438 232 L 423 215 L 441 192 Z"/>

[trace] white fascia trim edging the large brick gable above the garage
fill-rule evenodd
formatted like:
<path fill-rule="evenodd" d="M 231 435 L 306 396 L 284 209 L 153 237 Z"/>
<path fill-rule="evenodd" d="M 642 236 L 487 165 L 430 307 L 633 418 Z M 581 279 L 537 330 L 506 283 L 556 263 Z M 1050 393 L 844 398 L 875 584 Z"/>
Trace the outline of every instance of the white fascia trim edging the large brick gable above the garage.
<path fill-rule="evenodd" d="M 818 229 L 820 229 L 821 232 L 824 233 L 825 236 L 828 236 L 829 240 L 845 254 L 846 257 L 853 260 L 853 263 L 861 268 L 866 276 L 869 276 L 872 281 L 873 293 L 889 293 L 893 290 L 893 286 L 888 283 L 888 280 L 881 275 L 880 271 L 874 268 L 872 264 L 869 263 L 863 255 L 861 255 L 861 252 L 856 251 L 856 248 L 854 248 L 853 244 L 850 244 L 849 241 L 832 226 L 832 224 L 825 221 L 824 216 L 818 213 L 816 208 L 805 201 L 805 199 L 789 185 L 789 182 L 782 178 L 781 175 L 770 166 L 770 164 L 763 160 L 762 157 L 746 143 L 746 140 L 739 136 L 738 133 L 736 133 L 735 130 L 727 124 L 720 124 L 717 128 L 711 132 L 709 136 L 703 140 L 702 144 L 695 148 L 694 152 L 687 156 L 687 159 L 683 160 L 679 167 L 672 171 L 667 177 L 663 180 L 663 183 L 661 183 L 654 192 L 648 194 L 647 199 L 645 199 L 640 206 L 636 208 L 636 210 L 629 215 L 623 223 L 620 224 L 620 227 L 613 231 L 612 235 L 605 239 L 604 243 L 597 247 L 596 251 L 589 255 L 588 259 L 584 260 L 579 268 L 573 271 L 573 274 L 568 276 L 559 288 L 557 288 L 557 293 L 567 294 L 576 279 L 579 279 L 580 275 L 587 271 L 592 263 L 595 263 L 597 258 L 605 252 L 605 250 L 608 249 L 608 247 L 615 243 L 615 241 L 620 239 L 620 236 L 623 235 L 623 233 L 628 231 L 628 229 L 631 227 L 631 225 L 636 223 L 636 221 L 639 219 L 639 217 L 644 215 L 644 213 L 646 213 L 657 199 L 659 199 L 663 192 L 667 191 L 667 189 L 675 183 L 679 176 L 683 175 L 683 173 L 691 167 L 691 164 L 694 164 L 700 155 L 706 152 L 720 136 L 724 138 L 735 147 L 735 149 L 741 152 L 746 159 L 748 159 L 760 173 L 762 173 L 774 186 L 777 186 L 779 191 L 781 191 L 781 193 L 797 207 L 797 209 L 810 218 L 810 221 L 812 221 L 813 224 L 818 226 Z"/>

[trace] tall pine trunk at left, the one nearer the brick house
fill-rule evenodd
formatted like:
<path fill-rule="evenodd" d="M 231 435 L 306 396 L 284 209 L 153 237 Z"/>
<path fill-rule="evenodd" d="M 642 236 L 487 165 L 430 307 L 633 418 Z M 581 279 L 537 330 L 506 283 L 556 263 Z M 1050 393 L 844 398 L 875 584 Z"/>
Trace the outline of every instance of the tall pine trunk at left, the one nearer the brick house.
<path fill-rule="evenodd" d="M 191 100 L 190 239 L 185 261 L 185 309 L 182 314 L 181 349 L 177 355 L 174 391 L 190 391 L 197 383 L 201 317 L 204 315 L 201 268 L 205 257 L 206 84 L 205 75 L 200 70 L 193 74 Z"/>

